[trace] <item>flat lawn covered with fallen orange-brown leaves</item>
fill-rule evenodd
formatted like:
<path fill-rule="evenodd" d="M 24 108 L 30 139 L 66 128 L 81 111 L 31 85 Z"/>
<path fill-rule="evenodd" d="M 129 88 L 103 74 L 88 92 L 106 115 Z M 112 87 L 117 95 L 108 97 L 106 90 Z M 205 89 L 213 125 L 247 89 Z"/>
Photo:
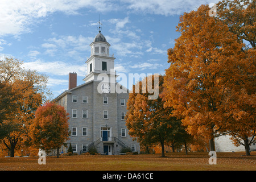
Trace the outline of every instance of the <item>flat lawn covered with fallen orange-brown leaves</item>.
<path fill-rule="evenodd" d="M 76 155 L 46 157 L 46 165 L 38 157 L 0 158 L 0 171 L 241 171 L 256 170 L 256 152 L 217 153 L 217 164 L 208 163 L 207 152 L 139 155 Z"/>

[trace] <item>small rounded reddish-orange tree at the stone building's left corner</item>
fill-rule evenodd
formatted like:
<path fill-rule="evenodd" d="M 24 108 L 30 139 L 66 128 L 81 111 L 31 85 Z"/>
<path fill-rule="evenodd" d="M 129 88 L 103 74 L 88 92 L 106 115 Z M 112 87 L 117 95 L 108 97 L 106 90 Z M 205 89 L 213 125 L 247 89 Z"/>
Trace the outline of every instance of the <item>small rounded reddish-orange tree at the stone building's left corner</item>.
<path fill-rule="evenodd" d="M 35 113 L 35 119 L 30 126 L 32 143 L 48 152 L 59 148 L 69 139 L 68 113 L 63 106 L 46 102 Z"/>

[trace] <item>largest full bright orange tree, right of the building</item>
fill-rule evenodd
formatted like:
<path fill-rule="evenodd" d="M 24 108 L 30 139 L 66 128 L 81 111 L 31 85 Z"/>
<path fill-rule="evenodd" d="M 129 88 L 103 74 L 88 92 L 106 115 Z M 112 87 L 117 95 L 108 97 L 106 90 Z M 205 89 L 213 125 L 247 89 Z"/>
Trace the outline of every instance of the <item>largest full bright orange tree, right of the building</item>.
<path fill-rule="evenodd" d="M 175 47 L 168 49 L 164 77 L 164 106 L 174 107 L 187 131 L 209 139 L 214 150 L 214 137 L 228 133 L 233 122 L 230 99 L 241 87 L 237 84 L 245 66 L 243 44 L 229 27 L 209 16 L 209 7 L 180 17 Z M 234 97 L 233 97 L 234 96 Z"/>

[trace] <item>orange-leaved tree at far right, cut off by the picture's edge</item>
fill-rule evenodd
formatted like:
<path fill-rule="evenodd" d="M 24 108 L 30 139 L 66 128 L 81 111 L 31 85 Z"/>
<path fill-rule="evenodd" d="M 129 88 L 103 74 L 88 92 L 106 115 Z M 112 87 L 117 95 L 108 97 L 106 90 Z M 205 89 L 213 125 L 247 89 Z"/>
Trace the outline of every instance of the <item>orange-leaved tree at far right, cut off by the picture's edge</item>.
<path fill-rule="evenodd" d="M 237 35 L 239 42 L 245 42 L 247 46 L 242 51 L 246 57 L 240 68 L 240 80 L 236 82 L 233 97 L 226 105 L 233 121 L 229 123 L 229 131 L 233 143 L 236 146 L 245 146 L 246 155 L 250 155 L 249 146 L 255 141 L 256 121 L 256 84 L 255 84 L 255 60 L 256 60 L 256 1 L 223 0 L 217 3 L 217 18 L 224 22 L 229 31 Z M 249 44 L 248 44 L 249 42 Z"/>

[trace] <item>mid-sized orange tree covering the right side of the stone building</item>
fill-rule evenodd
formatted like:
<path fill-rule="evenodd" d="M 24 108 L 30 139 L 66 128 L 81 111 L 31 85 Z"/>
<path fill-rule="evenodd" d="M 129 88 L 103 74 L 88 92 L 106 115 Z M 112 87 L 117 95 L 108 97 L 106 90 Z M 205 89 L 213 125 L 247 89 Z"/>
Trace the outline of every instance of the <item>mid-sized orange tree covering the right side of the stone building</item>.
<path fill-rule="evenodd" d="M 164 109 L 162 98 L 149 100 L 147 88 L 149 80 L 155 80 L 155 75 L 148 76 L 137 84 L 140 85 L 140 92 L 129 94 L 127 101 L 126 126 L 129 134 L 136 138 L 143 146 L 152 146 L 159 144 L 164 155 L 164 144 L 167 143 L 174 135 L 174 122 L 179 122 L 175 117 L 170 116 L 172 108 Z M 158 86 L 159 93 L 163 90 L 163 76 L 159 75 L 159 83 L 153 81 L 150 84 Z M 144 88 L 144 90 L 143 90 Z M 154 88 L 156 89 L 156 88 Z"/>

